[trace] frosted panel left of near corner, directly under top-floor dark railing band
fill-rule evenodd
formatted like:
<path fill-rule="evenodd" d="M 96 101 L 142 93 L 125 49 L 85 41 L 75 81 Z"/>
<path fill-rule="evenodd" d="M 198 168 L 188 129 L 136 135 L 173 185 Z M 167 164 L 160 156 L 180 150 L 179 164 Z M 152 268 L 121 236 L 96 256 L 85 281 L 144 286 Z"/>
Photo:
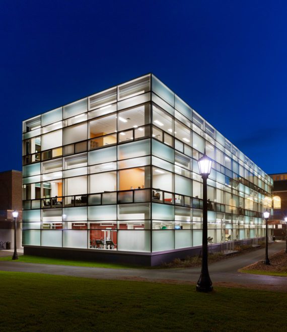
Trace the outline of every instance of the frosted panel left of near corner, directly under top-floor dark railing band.
<path fill-rule="evenodd" d="M 135 158 L 150 153 L 149 139 L 118 145 L 118 159 Z"/>

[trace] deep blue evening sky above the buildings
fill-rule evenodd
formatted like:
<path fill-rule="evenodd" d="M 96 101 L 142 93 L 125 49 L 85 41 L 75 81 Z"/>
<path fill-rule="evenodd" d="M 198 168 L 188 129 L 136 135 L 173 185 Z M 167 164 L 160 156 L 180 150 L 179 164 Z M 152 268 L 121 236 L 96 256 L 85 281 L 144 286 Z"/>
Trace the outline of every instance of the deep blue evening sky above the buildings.
<path fill-rule="evenodd" d="M 154 72 L 263 171 L 287 171 L 286 1 L 0 1 L 2 155 L 22 120 Z"/>

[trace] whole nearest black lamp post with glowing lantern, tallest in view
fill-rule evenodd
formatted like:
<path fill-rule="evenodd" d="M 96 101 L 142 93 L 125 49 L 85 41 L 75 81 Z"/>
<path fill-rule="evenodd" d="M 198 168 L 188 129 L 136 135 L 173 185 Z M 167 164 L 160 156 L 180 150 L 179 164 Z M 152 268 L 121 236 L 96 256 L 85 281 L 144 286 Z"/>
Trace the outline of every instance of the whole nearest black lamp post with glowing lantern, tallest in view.
<path fill-rule="evenodd" d="M 207 262 L 207 178 L 211 171 L 212 160 L 205 154 L 198 159 L 199 174 L 203 182 L 203 214 L 202 214 L 202 262 L 201 273 L 197 281 L 196 290 L 198 292 L 210 292 L 213 289 L 208 273 Z"/>

